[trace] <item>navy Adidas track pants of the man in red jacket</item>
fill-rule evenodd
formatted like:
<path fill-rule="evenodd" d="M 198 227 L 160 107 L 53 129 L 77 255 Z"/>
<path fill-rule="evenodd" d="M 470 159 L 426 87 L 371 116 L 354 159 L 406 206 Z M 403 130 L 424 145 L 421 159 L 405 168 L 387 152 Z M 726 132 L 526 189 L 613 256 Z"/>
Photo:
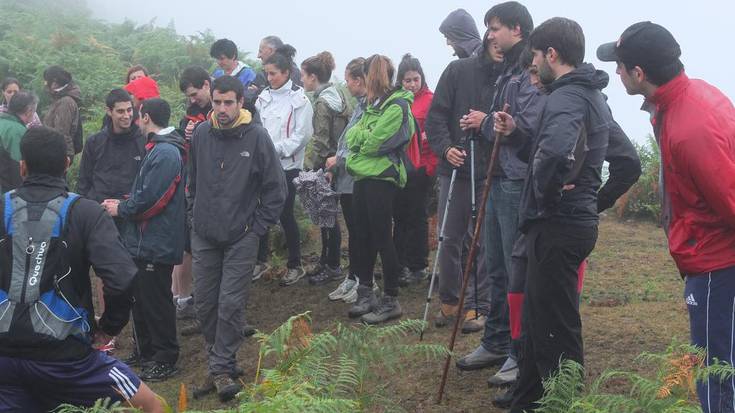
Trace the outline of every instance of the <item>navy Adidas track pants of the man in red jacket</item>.
<path fill-rule="evenodd" d="M 735 350 L 735 267 L 704 274 L 687 274 L 684 300 L 689 308 L 692 344 L 707 349 L 713 359 L 733 364 Z M 710 377 L 697 382 L 704 413 L 732 413 L 735 377 Z"/>

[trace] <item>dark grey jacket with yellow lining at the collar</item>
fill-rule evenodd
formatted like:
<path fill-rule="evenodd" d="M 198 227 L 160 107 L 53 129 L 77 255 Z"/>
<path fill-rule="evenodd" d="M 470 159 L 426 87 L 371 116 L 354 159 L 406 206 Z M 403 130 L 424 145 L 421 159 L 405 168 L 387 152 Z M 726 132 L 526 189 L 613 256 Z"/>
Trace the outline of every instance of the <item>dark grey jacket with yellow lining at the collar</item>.
<path fill-rule="evenodd" d="M 190 157 L 189 205 L 199 236 L 228 245 L 247 231 L 262 236 L 278 221 L 288 190 L 265 128 L 204 122 L 194 131 Z"/>

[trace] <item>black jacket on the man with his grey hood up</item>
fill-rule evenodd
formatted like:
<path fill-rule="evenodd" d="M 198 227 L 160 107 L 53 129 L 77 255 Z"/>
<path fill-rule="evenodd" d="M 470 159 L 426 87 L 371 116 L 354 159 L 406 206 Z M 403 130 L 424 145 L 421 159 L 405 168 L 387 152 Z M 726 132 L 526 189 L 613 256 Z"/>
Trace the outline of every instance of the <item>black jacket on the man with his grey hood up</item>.
<path fill-rule="evenodd" d="M 470 179 L 469 134 L 459 127 L 459 120 L 470 109 L 490 113 L 495 78 L 498 66 L 490 61 L 487 53 L 467 59 L 455 60 L 444 69 L 434 91 L 429 114 L 424 129 L 431 150 L 441 159 L 437 173 L 443 176 L 452 174 L 452 165 L 444 154 L 452 146 L 466 149 L 468 158 L 457 170 L 457 177 Z M 475 177 L 484 179 L 490 142 L 478 139 L 475 147 Z"/>

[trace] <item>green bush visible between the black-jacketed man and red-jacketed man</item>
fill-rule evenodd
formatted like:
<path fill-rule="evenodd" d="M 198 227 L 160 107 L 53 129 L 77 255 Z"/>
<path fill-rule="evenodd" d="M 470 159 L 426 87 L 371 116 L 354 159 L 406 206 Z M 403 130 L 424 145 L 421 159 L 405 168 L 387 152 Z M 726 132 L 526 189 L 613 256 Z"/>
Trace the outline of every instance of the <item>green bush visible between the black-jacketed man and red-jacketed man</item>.
<path fill-rule="evenodd" d="M 634 145 L 641 159 L 641 177 L 618 202 L 618 214 L 659 221 L 661 219 L 659 147 L 651 135 L 648 135 L 645 144 L 634 143 Z"/>

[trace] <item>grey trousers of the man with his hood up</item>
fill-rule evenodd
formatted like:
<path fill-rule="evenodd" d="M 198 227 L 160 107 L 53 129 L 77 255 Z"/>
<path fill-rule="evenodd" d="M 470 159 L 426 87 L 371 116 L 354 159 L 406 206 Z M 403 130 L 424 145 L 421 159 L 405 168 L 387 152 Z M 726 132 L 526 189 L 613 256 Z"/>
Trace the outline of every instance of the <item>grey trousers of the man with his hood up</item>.
<path fill-rule="evenodd" d="M 439 176 L 439 219 L 441 227 L 444 217 L 444 208 L 449 193 L 448 176 Z M 475 182 L 475 199 L 477 209 L 480 209 L 482 187 L 485 181 Z M 439 300 L 442 304 L 459 304 L 459 291 L 462 287 L 462 275 L 465 261 L 472 241 L 475 223 L 472 222 L 471 185 L 469 180 L 456 179 L 452 190 L 452 202 L 449 205 L 447 223 L 444 228 L 444 241 L 439 254 Z M 441 231 L 439 228 L 437 231 Z M 437 232 L 438 234 L 439 232 Z M 480 231 L 482 235 L 482 231 Z M 464 310 L 475 308 L 475 274 L 477 274 L 477 306 L 480 313 L 487 315 L 490 311 L 490 277 L 487 272 L 485 258 L 485 237 L 480 236 L 479 248 L 475 256 L 473 273 L 465 295 Z"/>

